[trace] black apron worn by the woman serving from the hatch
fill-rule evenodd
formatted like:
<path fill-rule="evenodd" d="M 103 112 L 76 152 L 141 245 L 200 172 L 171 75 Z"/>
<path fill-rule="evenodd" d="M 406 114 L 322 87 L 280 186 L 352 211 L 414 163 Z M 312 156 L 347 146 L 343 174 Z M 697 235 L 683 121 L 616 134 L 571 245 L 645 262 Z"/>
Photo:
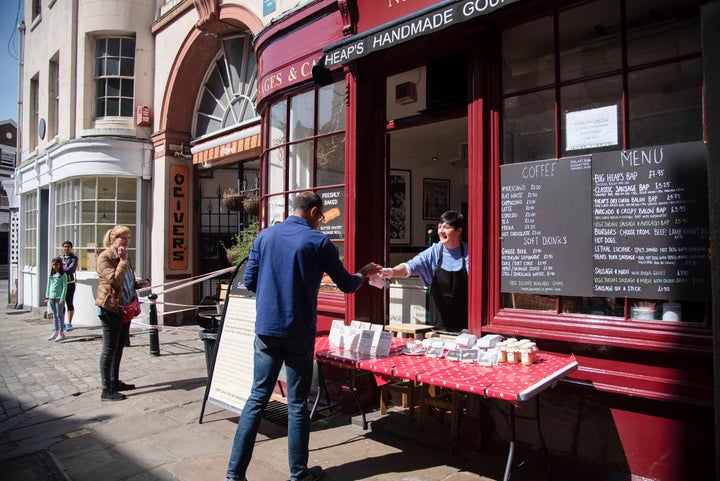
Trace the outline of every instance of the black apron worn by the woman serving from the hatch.
<path fill-rule="evenodd" d="M 438 266 L 430 284 L 430 320 L 440 329 L 460 331 L 468 327 L 468 279 L 465 266 L 465 249 L 460 244 L 463 268 L 446 271 L 442 268 L 444 247 L 440 247 Z"/>

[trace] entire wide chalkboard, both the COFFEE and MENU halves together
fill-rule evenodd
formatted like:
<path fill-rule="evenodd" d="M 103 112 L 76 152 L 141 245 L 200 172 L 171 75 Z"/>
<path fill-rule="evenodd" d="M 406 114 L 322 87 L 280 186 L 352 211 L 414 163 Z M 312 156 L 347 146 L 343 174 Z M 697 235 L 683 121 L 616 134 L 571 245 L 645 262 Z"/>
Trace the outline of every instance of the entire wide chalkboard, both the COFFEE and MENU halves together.
<path fill-rule="evenodd" d="M 702 142 L 500 168 L 503 292 L 710 295 Z"/>

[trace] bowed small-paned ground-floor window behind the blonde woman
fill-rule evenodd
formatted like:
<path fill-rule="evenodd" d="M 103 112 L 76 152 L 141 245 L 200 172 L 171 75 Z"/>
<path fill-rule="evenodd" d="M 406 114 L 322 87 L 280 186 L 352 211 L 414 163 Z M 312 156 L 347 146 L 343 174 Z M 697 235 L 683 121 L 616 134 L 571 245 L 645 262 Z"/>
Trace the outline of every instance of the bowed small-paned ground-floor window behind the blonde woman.
<path fill-rule="evenodd" d="M 80 177 L 55 185 L 54 252 L 62 252 L 63 242 L 72 242 L 80 259 L 78 270 L 95 270 L 103 237 L 118 224 L 137 235 L 137 179 Z"/>

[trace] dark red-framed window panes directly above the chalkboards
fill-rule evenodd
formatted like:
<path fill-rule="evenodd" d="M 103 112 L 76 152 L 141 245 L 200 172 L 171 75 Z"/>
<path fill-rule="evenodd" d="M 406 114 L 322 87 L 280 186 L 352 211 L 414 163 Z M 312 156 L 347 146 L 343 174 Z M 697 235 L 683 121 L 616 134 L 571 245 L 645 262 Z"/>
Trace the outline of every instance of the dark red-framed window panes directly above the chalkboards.
<path fill-rule="evenodd" d="M 701 140 L 699 12 L 597 0 L 503 30 L 503 163 Z M 616 143 L 569 149 L 566 115 L 608 106 Z"/>

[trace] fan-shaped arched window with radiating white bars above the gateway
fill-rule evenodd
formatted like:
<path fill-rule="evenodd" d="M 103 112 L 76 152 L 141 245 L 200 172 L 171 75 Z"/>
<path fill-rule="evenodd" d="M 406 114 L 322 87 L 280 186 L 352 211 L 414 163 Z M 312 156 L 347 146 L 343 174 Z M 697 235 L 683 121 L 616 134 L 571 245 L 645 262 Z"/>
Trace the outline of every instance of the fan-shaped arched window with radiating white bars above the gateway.
<path fill-rule="evenodd" d="M 195 113 L 195 138 L 259 120 L 257 65 L 247 35 L 224 39 L 208 72 Z"/>

